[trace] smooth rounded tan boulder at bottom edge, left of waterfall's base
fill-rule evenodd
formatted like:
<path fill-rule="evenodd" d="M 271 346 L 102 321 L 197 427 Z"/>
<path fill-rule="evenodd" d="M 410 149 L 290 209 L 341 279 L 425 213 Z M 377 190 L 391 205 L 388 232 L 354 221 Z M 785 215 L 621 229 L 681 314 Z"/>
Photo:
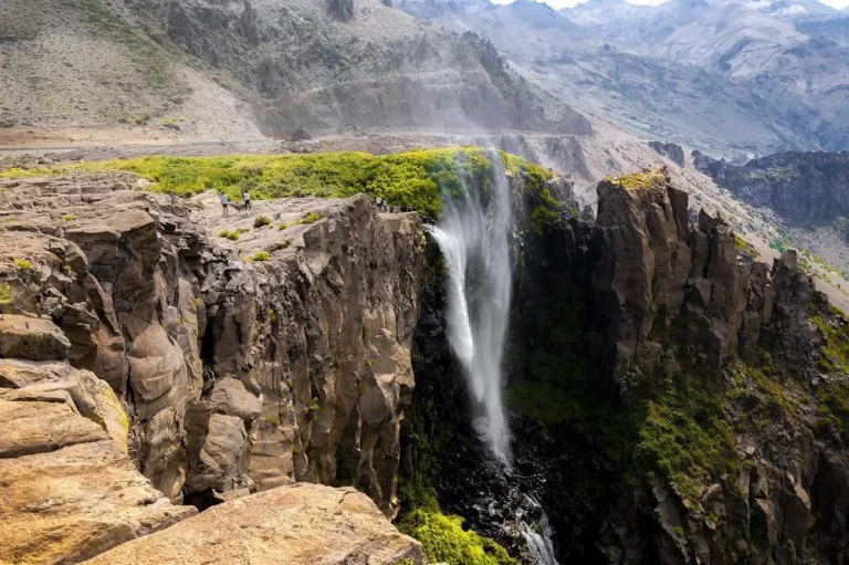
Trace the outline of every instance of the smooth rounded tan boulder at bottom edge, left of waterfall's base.
<path fill-rule="evenodd" d="M 427 564 L 365 494 L 301 483 L 226 502 L 167 530 L 125 543 L 92 565 Z"/>

